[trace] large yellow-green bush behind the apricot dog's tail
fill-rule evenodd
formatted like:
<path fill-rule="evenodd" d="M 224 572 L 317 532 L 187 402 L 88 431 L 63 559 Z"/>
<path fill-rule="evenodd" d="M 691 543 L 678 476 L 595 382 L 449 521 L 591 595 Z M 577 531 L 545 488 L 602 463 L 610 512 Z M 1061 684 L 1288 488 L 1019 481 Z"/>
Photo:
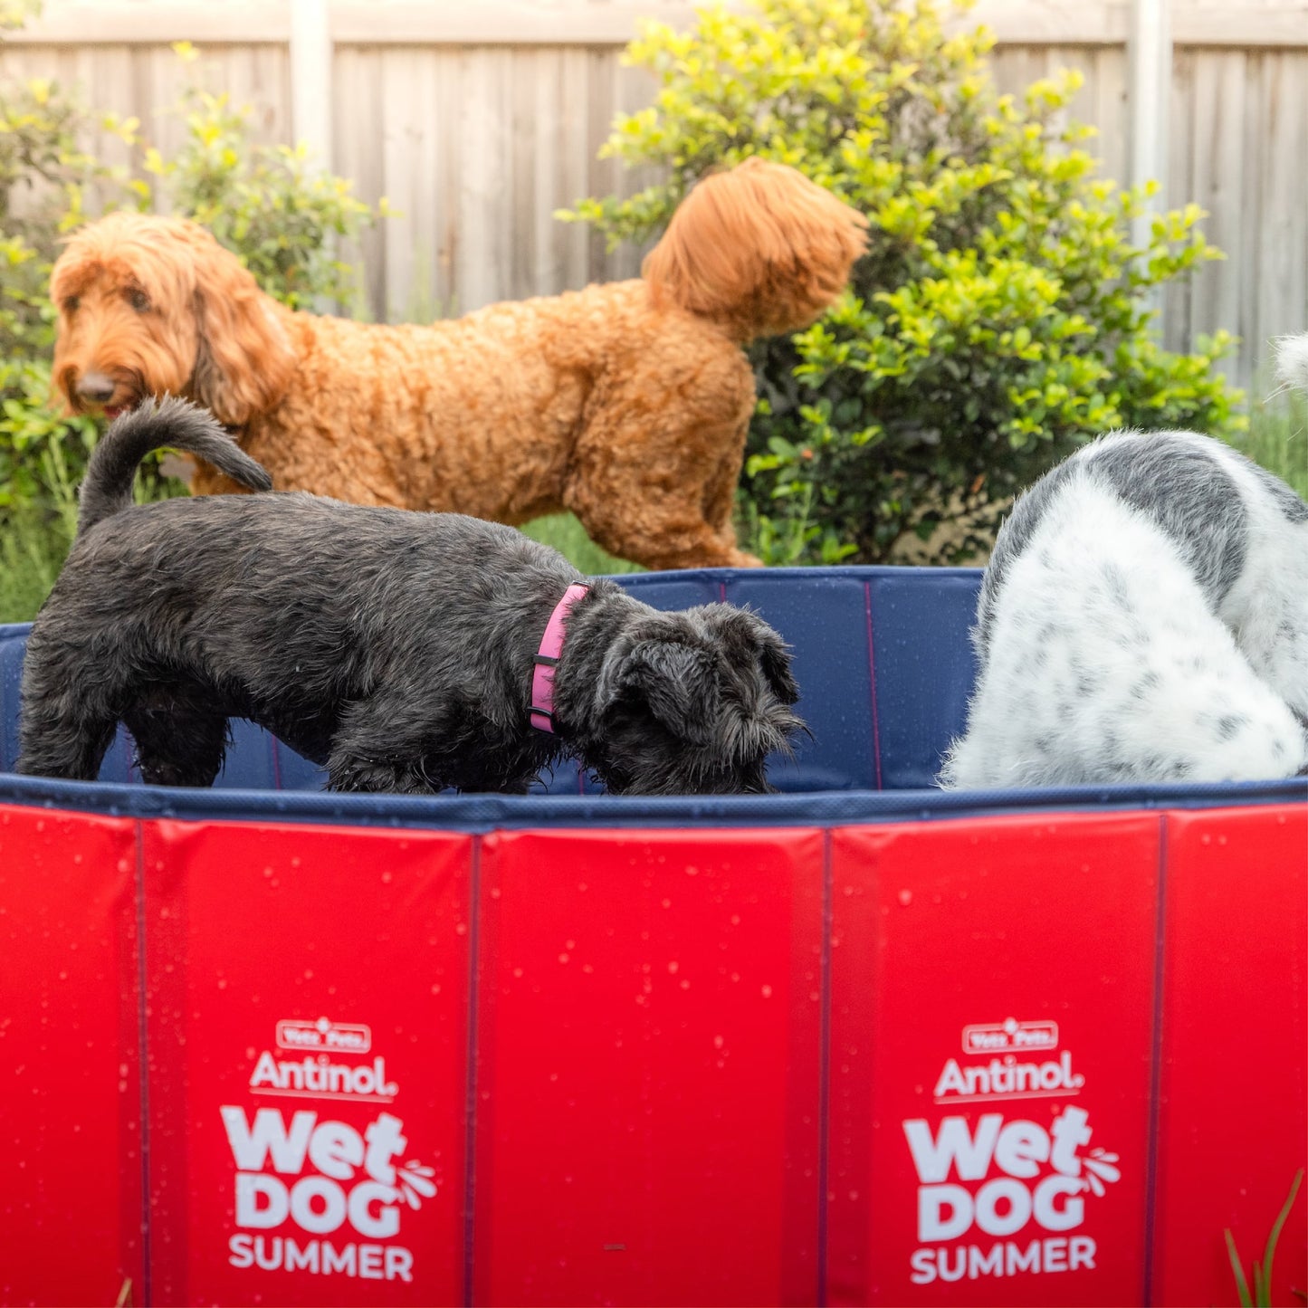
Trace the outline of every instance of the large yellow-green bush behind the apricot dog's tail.
<path fill-rule="evenodd" d="M 697 178 L 759 154 L 870 221 L 852 292 L 752 349 L 742 519 L 768 561 L 882 562 L 910 534 L 960 561 L 1019 488 L 1108 428 L 1243 424 L 1211 366 L 1232 339 L 1169 354 L 1143 306 L 1219 258 L 1199 209 L 1133 247 L 1143 196 L 1096 179 L 1087 131 L 1059 126 L 1076 78 L 998 95 L 991 43 L 948 35 L 931 0 L 756 0 L 701 10 L 691 33 L 651 24 L 627 52 L 661 90 L 604 152 L 667 181 L 568 217 L 642 239 Z"/>

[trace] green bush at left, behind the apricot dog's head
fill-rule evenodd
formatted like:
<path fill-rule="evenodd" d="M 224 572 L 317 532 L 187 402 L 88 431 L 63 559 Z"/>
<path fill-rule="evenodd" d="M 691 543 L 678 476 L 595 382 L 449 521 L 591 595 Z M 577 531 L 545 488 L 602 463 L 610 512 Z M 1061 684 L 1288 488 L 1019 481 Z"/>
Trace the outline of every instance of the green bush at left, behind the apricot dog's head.
<path fill-rule="evenodd" d="M 0 39 L 35 8 L 0 0 Z M 195 59 L 191 47 L 175 48 Z M 226 97 L 192 88 L 179 112 L 186 140 L 165 160 L 139 140 L 135 120 L 93 114 L 55 82 L 0 85 L 0 621 L 30 617 L 58 576 L 99 436 L 97 419 L 59 412 L 50 379 L 50 266 L 59 238 L 85 220 L 88 196 L 103 209 L 158 205 L 196 217 L 293 307 L 354 290 L 334 242 L 357 235 L 373 211 L 349 184 L 311 167 L 302 150 L 252 144 L 249 111 Z M 82 153 L 78 135 L 97 127 L 140 145 L 152 182 Z M 183 492 L 157 463 L 143 470 L 139 498 Z"/>

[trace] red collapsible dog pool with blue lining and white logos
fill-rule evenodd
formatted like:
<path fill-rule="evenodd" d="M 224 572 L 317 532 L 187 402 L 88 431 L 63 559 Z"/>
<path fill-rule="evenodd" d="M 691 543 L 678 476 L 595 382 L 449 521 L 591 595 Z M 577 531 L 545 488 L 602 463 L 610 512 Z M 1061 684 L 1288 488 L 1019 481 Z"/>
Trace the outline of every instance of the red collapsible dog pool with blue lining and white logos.
<path fill-rule="evenodd" d="M 17 777 L 0 628 L 0 1300 L 1235 1301 L 1308 782 L 943 794 L 977 573 L 623 581 L 795 646 L 781 794 L 339 797 L 252 729 L 212 791 Z"/>

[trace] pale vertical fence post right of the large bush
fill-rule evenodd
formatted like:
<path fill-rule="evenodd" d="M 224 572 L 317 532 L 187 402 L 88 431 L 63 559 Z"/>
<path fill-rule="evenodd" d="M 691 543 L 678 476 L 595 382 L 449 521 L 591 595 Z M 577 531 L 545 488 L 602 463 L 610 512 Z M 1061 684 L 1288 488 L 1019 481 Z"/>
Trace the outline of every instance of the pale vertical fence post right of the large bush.
<path fill-rule="evenodd" d="M 1172 98 L 1172 31 L 1168 0 L 1131 0 L 1127 37 L 1130 114 L 1130 183 L 1156 181 L 1154 196 L 1131 222 L 1131 242 L 1144 246 L 1154 217 L 1167 208 L 1167 111 Z M 1144 297 L 1146 306 L 1162 313 L 1160 288 Z M 1162 331 L 1162 322 L 1158 323 Z"/>

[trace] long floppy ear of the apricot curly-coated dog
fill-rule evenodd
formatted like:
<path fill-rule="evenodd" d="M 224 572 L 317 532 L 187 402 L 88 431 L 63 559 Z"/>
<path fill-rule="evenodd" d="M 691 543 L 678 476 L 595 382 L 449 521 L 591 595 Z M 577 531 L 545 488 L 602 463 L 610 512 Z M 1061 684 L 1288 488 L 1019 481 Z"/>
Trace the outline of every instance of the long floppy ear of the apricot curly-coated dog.
<path fill-rule="evenodd" d="M 285 394 L 296 356 L 273 301 L 212 237 L 196 243 L 192 396 L 220 422 L 242 426 Z"/>

